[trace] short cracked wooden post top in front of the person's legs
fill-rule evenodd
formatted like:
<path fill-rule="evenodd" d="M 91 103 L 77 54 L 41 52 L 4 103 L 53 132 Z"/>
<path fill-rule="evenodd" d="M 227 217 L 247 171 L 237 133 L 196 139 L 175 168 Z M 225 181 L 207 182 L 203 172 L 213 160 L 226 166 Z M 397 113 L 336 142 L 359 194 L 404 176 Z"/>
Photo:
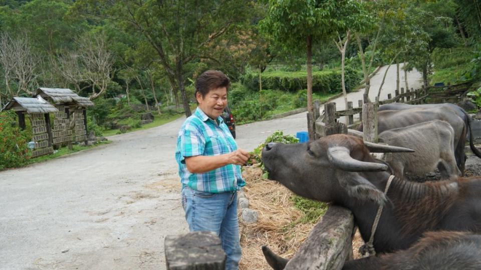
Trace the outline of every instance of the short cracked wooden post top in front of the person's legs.
<path fill-rule="evenodd" d="M 225 253 L 212 231 L 167 235 L 164 241 L 167 270 L 224 270 Z"/>

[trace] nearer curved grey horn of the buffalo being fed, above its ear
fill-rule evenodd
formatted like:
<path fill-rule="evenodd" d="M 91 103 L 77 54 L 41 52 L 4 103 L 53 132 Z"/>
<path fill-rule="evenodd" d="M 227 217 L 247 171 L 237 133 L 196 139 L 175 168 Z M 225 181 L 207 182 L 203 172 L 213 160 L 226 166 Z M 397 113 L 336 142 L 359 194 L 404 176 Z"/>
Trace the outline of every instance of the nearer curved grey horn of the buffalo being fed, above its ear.
<path fill-rule="evenodd" d="M 347 171 L 382 171 L 388 169 L 386 164 L 354 159 L 349 155 L 349 152 L 349 149 L 344 146 L 331 146 L 327 149 L 327 156 L 331 164 Z"/>

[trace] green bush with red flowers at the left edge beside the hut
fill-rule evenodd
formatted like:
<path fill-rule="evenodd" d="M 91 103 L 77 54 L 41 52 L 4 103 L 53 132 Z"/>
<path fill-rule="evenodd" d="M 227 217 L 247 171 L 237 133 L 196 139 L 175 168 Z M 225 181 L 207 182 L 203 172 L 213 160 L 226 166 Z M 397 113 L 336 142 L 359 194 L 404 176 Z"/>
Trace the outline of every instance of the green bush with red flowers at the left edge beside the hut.
<path fill-rule="evenodd" d="M 18 167 L 30 158 L 25 131 L 16 125 L 13 110 L 0 112 L 0 170 Z"/>

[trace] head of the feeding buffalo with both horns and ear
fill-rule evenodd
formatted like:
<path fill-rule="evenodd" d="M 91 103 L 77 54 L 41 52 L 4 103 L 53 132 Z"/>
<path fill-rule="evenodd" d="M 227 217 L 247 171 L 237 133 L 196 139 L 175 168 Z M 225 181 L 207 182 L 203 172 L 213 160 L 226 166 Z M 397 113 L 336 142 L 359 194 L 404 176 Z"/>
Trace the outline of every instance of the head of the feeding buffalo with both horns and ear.
<path fill-rule="evenodd" d="M 306 143 L 268 143 L 262 151 L 269 179 L 293 192 L 320 201 L 336 201 L 347 192 L 359 199 L 386 201 L 363 172 L 388 170 L 372 152 L 412 152 L 403 147 L 363 142 L 362 139 L 335 134 Z"/>

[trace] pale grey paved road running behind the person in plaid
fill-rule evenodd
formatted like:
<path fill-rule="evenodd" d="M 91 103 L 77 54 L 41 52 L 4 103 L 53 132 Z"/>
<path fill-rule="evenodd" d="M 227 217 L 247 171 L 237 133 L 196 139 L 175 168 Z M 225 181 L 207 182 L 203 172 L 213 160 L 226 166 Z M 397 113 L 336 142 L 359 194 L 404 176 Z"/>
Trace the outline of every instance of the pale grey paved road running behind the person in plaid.
<path fill-rule="evenodd" d="M 187 232 L 174 160 L 183 120 L 0 172 L 0 269 L 165 269 L 164 237 Z M 307 130 L 306 113 L 237 126 L 236 140 L 250 151 L 275 130 Z"/>

